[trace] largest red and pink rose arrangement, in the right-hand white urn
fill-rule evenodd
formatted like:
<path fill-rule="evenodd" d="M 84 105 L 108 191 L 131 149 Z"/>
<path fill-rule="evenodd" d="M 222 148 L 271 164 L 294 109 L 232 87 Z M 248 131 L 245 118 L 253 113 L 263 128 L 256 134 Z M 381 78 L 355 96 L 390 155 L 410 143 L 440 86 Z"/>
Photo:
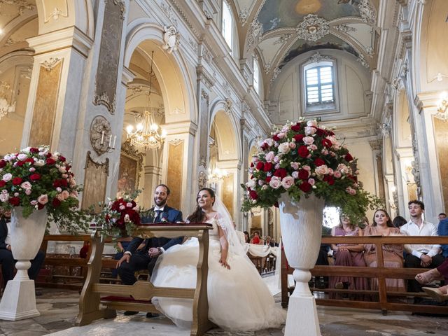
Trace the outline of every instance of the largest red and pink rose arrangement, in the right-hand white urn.
<path fill-rule="evenodd" d="M 298 202 L 315 195 L 325 205 L 338 207 L 357 221 L 382 202 L 358 182 L 357 160 L 316 120 L 287 123 L 259 143 L 251 162 L 243 211 L 252 207 L 278 207 L 282 193 Z M 356 223 L 356 222 L 355 222 Z"/>

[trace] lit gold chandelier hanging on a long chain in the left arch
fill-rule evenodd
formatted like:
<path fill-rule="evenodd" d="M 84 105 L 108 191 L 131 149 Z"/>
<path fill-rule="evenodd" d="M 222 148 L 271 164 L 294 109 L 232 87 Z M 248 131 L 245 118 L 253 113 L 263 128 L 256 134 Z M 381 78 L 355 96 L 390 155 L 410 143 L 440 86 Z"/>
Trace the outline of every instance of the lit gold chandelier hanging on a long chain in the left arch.
<path fill-rule="evenodd" d="M 167 133 L 165 130 L 159 132 L 159 125 L 155 123 L 153 113 L 151 111 L 151 84 L 153 81 L 153 59 L 154 51 L 151 52 L 151 69 L 149 71 L 149 92 L 148 100 L 146 102 L 146 109 L 139 116 L 136 116 L 137 126 L 134 130 L 132 125 L 126 127 L 127 139 L 130 143 L 136 147 L 143 148 L 145 150 L 149 148 L 160 148 L 162 146 Z"/>

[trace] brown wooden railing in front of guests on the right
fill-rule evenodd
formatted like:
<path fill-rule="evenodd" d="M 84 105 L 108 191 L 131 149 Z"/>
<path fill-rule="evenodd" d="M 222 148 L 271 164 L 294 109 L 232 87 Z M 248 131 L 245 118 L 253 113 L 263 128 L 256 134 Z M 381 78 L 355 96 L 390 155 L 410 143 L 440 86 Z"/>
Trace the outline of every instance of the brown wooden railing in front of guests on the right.
<path fill-rule="evenodd" d="M 422 268 L 394 268 L 385 267 L 383 250 L 384 244 L 448 244 L 448 237 L 409 237 L 409 236 L 365 236 L 365 237 L 322 237 L 322 244 L 374 244 L 377 251 L 378 267 L 343 267 L 343 266 L 315 266 L 311 269 L 312 276 L 354 276 L 377 278 L 378 290 L 349 290 L 337 288 L 310 288 L 312 292 L 324 293 L 351 293 L 358 295 L 371 295 L 378 297 L 378 302 L 362 302 L 355 300 L 333 300 L 317 298 L 316 304 L 323 306 L 381 309 L 383 314 L 388 310 L 414 311 L 433 314 L 448 314 L 448 306 L 408 304 L 391 302 L 389 297 L 425 297 L 425 293 L 396 292 L 386 289 L 388 279 L 414 279 L 416 274 L 424 272 Z M 288 266 L 284 251 L 281 255 L 281 304 L 288 307 L 288 274 L 293 274 L 293 268 Z"/>

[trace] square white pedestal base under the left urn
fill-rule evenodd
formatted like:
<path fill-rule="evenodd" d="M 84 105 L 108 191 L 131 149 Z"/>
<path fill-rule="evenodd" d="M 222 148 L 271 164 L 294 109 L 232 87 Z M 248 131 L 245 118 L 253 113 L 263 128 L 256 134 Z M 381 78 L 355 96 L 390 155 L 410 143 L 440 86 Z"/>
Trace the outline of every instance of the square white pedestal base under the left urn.
<path fill-rule="evenodd" d="M 39 315 L 41 313 L 36 309 L 34 280 L 8 281 L 0 302 L 0 319 L 18 321 Z"/>

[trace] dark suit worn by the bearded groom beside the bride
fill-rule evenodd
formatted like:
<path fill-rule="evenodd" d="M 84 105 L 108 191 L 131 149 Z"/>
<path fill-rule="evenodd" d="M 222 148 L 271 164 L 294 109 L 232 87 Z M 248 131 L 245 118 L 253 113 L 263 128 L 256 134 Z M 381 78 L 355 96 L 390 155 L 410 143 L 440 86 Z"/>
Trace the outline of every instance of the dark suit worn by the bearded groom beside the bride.
<path fill-rule="evenodd" d="M 158 223 L 161 221 L 176 223 L 183 221 L 182 212 L 172 207 L 168 207 L 167 205 L 163 207 L 163 211 L 160 211 L 160 213 L 158 213 L 159 211 L 156 212 L 154 208 L 151 208 L 150 212 L 151 214 L 153 214 L 153 216 L 141 218 L 141 223 Z M 183 237 L 173 239 L 165 237 L 153 237 L 145 239 L 145 247 L 141 251 L 136 253 L 137 248 L 142 241 L 144 241 L 144 239 L 139 237 L 134 237 L 134 239 L 132 239 L 131 243 L 129 244 L 129 246 L 127 246 L 126 249 L 126 252 L 128 254 L 131 254 L 130 262 L 123 262 L 118 268 L 118 274 L 120 274 L 120 278 L 125 285 L 132 285 L 133 283 L 135 283 L 135 281 L 137 281 L 137 278 L 135 277 L 134 273 L 141 269 L 148 269 L 149 274 L 153 274 L 153 269 L 158 256 L 153 258 L 149 256 L 148 250 L 151 247 L 160 247 L 162 248 L 162 251 L 166 251 L 173 245 L 181 244 L 181 242 L 183 241 Z"/>

